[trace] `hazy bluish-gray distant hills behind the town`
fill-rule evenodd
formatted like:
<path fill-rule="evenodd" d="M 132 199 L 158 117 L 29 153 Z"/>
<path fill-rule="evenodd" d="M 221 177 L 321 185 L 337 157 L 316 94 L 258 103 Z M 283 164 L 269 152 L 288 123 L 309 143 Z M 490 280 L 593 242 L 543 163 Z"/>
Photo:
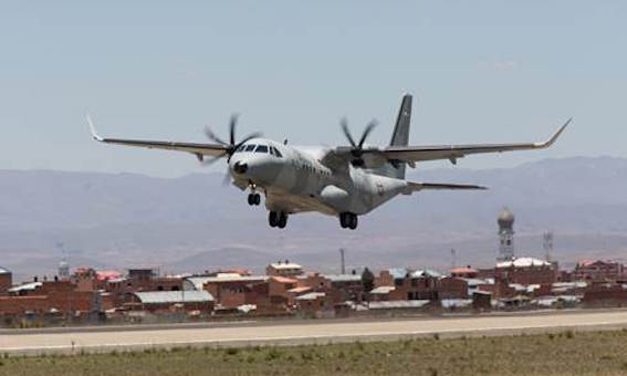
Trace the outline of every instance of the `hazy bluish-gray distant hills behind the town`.
<path fill-rule="evenodd" d="M 332 271 L 341 247 L 354 267 L 447 268 L 450 248 L 459 262 L 490 264 L 495 218 L 504 205 L 516 215 L 521 252 L 542 255 L 540 236 L 546 229 L 555 232 L 555 255 L 562 260 L 618 258 L 627 248 L 627 159 L 411 170 L 411 180 L 481 184 L 490 190 L 399 197 L 364 217 L 357 231 L 318 215 L 294 216 L 283 231 L 270 229 L 265 210 L 250 208 L 245 196 L 222 187 L 221 179 L 220 174 L 161 179 L 0 170 L 0 264 L 18 274 L 53 273 L 60 242 L 74 264 L 102 268 L 261 270 L 289 258 Z"/>

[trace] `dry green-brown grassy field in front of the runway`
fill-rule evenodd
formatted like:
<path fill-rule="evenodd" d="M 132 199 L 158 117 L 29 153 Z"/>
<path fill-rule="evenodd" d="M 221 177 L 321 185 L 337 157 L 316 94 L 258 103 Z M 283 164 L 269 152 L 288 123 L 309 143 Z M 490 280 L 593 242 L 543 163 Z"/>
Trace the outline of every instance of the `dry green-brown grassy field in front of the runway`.
<path fill-rule="evenodd" d="M 0 375 L 626 375 L 627 330 L 244 349 L 2 357 Z"/>

